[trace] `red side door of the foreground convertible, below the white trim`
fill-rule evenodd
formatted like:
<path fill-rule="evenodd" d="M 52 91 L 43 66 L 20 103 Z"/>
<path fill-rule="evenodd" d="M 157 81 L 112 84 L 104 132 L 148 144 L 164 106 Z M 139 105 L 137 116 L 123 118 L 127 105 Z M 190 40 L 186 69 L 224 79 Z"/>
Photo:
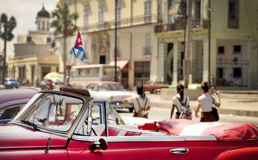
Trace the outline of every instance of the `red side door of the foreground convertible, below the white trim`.
<path fill-rule="evenodd" d="M 158 140 L 158 139 L 157 139 Z M 151 141 L 151 140 L 149 140 Z M 89 150 L 92 141 L 72 140 L 67 148 L 69 159 L 190 159 L 189 154 L 171 154 L 173 148 L 184 148 L 186 141 L 152 141 L 148 145 L 130 137 L 127 141 L 109 141 L 108 150 Z M 159 156 L 160 155 L 160 156 Z M 159 158 L 158 158 L 159 157 Z"/>

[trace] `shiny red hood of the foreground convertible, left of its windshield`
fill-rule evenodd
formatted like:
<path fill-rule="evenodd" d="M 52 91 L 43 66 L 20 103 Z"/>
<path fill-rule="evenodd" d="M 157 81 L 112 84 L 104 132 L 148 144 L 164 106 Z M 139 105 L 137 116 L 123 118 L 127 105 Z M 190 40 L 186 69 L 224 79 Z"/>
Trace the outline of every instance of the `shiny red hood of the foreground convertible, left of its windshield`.
<path fill-rule="evenodd" d="M 49 133 L 32 130 L 16 124 L 0 125 L 0 149 L 46 148 Z M 63 147 L 66 137 L 51 135 L 50 147 Z"/>

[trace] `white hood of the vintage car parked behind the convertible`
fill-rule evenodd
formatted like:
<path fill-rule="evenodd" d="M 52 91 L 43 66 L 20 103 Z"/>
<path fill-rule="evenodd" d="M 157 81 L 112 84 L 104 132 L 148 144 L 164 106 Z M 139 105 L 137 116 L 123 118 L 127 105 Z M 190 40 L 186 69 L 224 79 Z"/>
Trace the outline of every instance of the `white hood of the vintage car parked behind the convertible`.
<path fill-rule="evenodd" d="M 130 93 L 127 91 L 90 91 L 93 98 L 96 99 L 109 99 L 109 100 L 122 100 L 123 98 L 129 98 L 136 96 L 136 93 Z"/>

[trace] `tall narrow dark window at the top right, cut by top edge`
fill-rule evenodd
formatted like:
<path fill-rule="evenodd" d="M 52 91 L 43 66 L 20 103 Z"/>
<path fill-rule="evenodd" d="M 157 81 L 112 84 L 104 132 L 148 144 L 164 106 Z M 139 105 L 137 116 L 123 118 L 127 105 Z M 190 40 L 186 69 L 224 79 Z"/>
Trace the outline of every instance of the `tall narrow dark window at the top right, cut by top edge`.
<path fill-rule="evenodd" d="M 239 28 L 239 0 L 228 0 L 228 27 Z"/>

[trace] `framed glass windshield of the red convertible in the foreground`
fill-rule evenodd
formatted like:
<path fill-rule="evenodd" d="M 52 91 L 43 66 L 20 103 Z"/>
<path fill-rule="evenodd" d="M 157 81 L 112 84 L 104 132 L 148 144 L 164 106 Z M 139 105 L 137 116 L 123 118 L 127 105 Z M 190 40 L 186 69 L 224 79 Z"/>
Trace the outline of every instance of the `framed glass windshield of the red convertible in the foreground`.
<path fill-rule="evenodd" d="M 14 122 L 58 131 L 69 130 L 83 107 L 83 100 L 56 93 L 37 93 L 29 103 L 31 105 L 26 105 Z"/>

